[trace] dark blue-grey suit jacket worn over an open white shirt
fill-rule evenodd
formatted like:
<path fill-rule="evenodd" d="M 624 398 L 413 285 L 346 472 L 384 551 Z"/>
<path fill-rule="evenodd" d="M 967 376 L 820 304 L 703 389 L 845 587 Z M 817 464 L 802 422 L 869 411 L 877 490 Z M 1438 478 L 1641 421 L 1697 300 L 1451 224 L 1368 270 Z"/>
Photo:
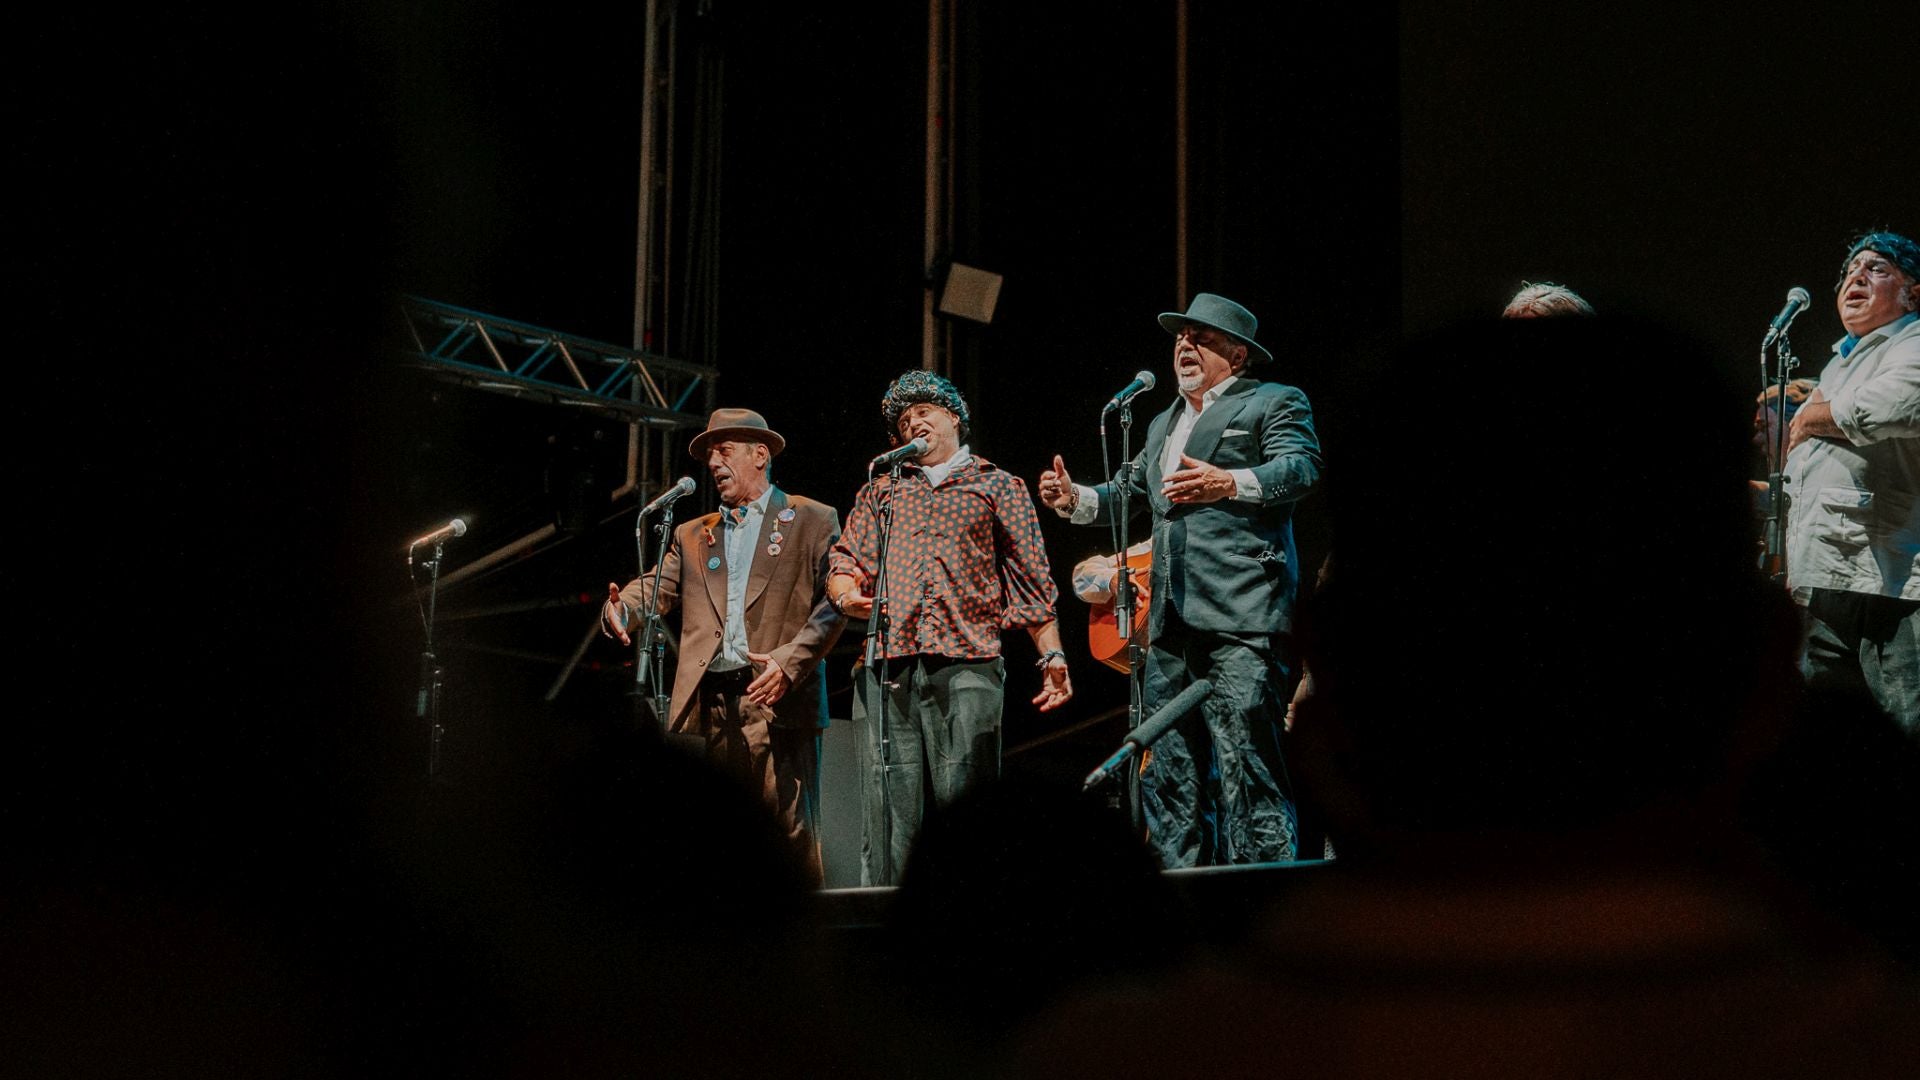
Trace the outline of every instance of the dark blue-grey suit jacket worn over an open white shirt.
<path fill-rule="evenodd" d="M 1154 511 L 1154 603 L 1148 634 L 1162 636 L 1167 609 L 1194 630 L 1273 634 L 1292 630 L 1300 582 L 1294 503 L 1321 477 L 1319 436 L 1308 396 L 1281 382 L 1235 379 L 1192 434 L 1187 455 L 1221 469 L 1252 469 L 1260 502 L 1173 503 L 1160 494 L 1160 457 L 1185 398 L 1154 417 L 1133 459 L 1129 513 Z M 1094 488 L 1098 523 L 1112 521 L 1114 480 Z"/>

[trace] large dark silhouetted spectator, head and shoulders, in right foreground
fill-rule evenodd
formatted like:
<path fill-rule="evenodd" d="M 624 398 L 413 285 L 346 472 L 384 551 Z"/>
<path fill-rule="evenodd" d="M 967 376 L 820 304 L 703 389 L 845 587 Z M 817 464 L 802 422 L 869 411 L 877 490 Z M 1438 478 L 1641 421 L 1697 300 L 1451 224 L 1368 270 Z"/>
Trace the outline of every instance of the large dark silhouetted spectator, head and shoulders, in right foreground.
<path fill-rule="evenodd" d="M 1655 392 L 1565 392 L 1626 356 Z M 1465 371 L 1469 405 L 1434 392 Z M 1248 949 L 1056 1009 L 1018 1074 L 1910 1074 L 1905 972 L 1747 828 L 1799 707 L 1749 394 L 1619 317 L 1457 327 L 1375 375 L 1302 619 L 1296 776 L 1338 861 Z"/>

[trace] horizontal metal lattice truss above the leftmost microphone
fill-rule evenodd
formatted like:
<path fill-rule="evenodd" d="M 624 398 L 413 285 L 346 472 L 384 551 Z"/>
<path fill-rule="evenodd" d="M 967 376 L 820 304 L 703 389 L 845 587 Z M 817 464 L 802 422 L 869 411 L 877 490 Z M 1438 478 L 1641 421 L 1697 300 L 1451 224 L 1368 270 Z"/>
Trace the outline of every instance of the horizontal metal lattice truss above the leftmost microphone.
<path fill-rule="evenodd" d="M 482 315 L 451 304 L 401 298 L 413 350 L 407 361 L 440 379 L 632 425 L 707 423 L 718 369 Z M 687 407 L 693 411 L 685 411 Z"/>

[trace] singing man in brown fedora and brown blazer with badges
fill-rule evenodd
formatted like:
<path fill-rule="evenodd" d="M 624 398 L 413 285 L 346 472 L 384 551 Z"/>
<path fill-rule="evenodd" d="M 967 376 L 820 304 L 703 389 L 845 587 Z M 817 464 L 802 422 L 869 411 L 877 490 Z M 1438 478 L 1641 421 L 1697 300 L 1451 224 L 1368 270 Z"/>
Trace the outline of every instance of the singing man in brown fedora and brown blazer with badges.
<path fill-rule="evenodd" d="M 705 740 L 707 757 L 747 780 L 772 809 L 812 880 L 820 728 L 828 724 L 820 661 L 847 619 L 828 603 L 828 550 L 839 511 L 772 484 L 787 440 L 753 409 L 714 409 L 693 436 L 722 511 L 674 528 L 659 571 L 659 609 L 680 607 L 680 665 L 670 734 Z M 655 571 L 607 584 L 603 630 L 632 644 Z"/>

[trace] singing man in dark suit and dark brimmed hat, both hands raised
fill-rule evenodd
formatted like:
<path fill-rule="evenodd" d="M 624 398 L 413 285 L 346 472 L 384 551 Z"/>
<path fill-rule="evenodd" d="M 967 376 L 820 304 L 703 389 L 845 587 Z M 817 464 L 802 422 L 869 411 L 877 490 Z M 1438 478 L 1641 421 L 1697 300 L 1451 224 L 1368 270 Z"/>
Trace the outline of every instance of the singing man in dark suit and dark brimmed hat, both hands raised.
<path fill-rule="evenodd" d="M 1140 809 L 1167 869 L 1294 859 L 1279 732 L 1296 663 L 1294 503 L 1321 473 L 1313 409 L 1294 386 L 1250 375 L 1273 354 L 1233 300 L 1202 292 L 1160 327 L 1173 334 L 1179 398 L 1127 471 L 1131 509 L 1154 513 L 1144 707 L 1200 678 L 1213 690 L 1148 748 Z M 1075 484 L 1058 455 L 1039 490 L 1077 525 L 1112 521 L 1114 480 Z"/>

